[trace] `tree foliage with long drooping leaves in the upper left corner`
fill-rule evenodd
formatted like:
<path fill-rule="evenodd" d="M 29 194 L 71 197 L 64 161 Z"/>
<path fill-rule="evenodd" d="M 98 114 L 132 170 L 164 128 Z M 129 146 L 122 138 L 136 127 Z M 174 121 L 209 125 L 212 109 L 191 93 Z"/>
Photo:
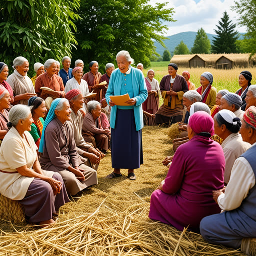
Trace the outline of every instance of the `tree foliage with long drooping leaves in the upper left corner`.
<path fill-rule="evenodd" d="M 4 0 L 0 7 L 0 59 L 30 62 L 71 55 L 76 44 L 73 21 L 80 0 Z"/>

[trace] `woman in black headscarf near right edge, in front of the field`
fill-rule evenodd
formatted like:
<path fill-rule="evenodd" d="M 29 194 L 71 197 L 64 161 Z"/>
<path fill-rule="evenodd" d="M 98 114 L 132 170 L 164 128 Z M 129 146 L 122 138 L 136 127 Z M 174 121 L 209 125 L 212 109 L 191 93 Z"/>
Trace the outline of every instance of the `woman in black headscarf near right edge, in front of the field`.
<path fill-rule="evenodd" d="M 245 101 L 245 97 L 247 95 L 248 89 L 251 85 L 251 80 L 252 80 L 252 74 L 249 71 L 242 71 L 239 75 L 239 85 L 240 85 L 240 89 L 237 90 L 235 93 L 239 96 L 241 96 L 242 98 L 242 106 L 241 106 L 241 110 L 245 110 L 246 109 L 246 101 Z"/>

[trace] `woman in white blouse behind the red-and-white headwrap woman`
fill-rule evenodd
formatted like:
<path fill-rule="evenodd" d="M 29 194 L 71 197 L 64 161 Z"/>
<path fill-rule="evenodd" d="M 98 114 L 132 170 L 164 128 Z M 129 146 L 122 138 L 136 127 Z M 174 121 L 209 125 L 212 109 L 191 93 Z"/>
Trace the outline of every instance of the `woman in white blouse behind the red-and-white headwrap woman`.
<path fill-rule="evenodd" d="M 89 92 L 88 83 L 82 79 L 83 71 L 80 66 L 77 66 L 73 69 L 73 78 L 67 81 L 65 86 L 65 93 L 72 89 L 78 89 L 81 91 L 82 95 L 85 97 Z M 83 102 L 83 109 L 87 112 L 87 107 Z"/>

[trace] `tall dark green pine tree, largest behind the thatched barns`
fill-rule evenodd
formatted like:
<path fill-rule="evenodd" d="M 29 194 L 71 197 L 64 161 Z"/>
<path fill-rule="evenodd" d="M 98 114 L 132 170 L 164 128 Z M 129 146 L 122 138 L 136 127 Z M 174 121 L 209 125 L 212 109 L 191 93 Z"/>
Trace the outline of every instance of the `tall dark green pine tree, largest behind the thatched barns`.
<path fill-rule="evenodd" d="M 217 36 L 212 40 L 212 52 L 214 53 L 236 53 L 236 40 L 238 39 L 238 32 L 235 30 L 236 25 L 232 24 L 226 11 L 221 20 L 216 25 L 218 29 L 214 29 Z"/>

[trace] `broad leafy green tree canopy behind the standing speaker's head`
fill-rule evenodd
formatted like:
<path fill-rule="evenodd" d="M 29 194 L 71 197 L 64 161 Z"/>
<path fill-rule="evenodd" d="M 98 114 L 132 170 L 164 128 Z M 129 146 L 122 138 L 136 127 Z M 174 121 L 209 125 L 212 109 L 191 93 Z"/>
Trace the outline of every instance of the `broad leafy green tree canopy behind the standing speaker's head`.
<path fill-rule="evenodd" d="M 96 60 L 103 70 L 103 64 L 115 64 L 116 54 L 127 50 L 136 63 L 148 67 L 150 56 L 156 53 L 154 40 L 164 45 L 167 25 L 163 23 L 173 21 L 173 9 L 165 5 L 152 6 L 148 0 L 81 0 L 73 59 Z"/>

